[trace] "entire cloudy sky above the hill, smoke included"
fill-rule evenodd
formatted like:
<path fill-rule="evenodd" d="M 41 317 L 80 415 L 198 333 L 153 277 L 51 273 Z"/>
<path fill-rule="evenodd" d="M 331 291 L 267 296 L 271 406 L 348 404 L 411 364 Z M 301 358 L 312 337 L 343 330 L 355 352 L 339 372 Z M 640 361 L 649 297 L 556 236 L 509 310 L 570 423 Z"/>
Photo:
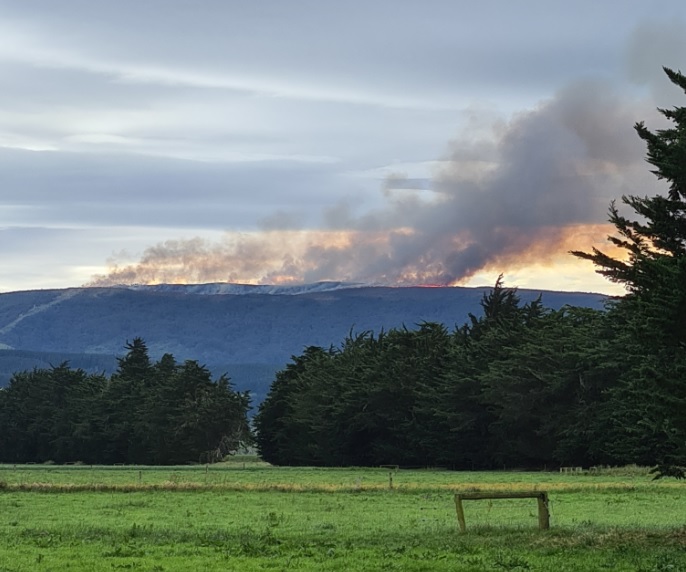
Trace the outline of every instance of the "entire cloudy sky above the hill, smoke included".
<path fill-rule="evenodd" d="M 572 249 L 665 186 L 681 0 L 0 0 L 0 292 L 621 293 Z"/>

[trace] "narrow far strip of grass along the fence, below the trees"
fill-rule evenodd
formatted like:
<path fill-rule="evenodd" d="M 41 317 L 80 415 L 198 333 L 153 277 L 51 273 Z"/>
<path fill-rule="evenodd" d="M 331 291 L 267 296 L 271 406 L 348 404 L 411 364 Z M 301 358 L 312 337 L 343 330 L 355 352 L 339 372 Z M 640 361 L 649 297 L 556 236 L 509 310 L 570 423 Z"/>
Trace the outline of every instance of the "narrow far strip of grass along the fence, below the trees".
<path fill-rule="evenodd" d="M 646 469 L 604 471 L 586 474 L 557 472 L 453 472 L 445 470 L 400 470 L 369 468 L 271 467 L 254 457 L 242 457 L 216 465 L 176 467 L 89 465 L 0 465 L 0 482 L 9 485 L 33 483 L 65 485 L 197 485 L 245 488 L 386 489 L 392 477 L 396 489 L 452 490 L 491 487 L 545 486 L 549 489 L 596 487 L 655 487 Z M 667 481 L 665 481 L 666 483 Z M 674 483 L 672 483 L 674 484 Z"/>

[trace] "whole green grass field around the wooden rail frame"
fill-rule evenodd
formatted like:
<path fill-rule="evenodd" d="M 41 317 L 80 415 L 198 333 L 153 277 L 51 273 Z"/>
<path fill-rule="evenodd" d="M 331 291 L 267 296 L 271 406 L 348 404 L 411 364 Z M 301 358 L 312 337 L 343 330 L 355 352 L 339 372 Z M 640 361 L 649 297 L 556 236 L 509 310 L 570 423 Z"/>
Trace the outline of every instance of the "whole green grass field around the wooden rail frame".
<path fill-rule="evenodd" d="M 392 482 L 391 482 L 392 477 Z M 549 492 L 536 502 L 453 493 Z M 596 475 L 0 466 L 0 571 L 686 571 L 686 485 Z"/>

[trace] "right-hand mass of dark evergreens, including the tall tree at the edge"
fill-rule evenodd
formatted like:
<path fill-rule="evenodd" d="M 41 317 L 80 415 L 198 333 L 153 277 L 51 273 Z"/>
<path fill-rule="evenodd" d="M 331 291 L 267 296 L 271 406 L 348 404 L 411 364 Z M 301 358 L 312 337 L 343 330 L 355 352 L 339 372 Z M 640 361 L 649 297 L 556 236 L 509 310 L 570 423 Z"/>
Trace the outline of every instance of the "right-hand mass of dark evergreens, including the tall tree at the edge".
<path fill-rule="evenodd" d="M 665 68 L 686 92 L 686 77 Z M 573 252 L 627 294 L 605 311 L 522 305 L 499 280 L 448 331 L 350 335 L 279 372 L 255 417 L 265 460 L 459 469 L 686 466 L 686 108 L 635 129 L 666 196 L 612 203 L 613 247 Z"/>

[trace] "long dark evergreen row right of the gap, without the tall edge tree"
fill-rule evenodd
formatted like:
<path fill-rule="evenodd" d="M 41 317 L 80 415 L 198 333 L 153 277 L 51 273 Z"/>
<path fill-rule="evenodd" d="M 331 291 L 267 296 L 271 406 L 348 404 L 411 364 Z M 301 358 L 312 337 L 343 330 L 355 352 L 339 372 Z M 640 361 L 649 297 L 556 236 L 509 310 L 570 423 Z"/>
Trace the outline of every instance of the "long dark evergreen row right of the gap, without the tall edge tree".
<path fill-rule="evenodd" d="M 264 459 L 455 469 L 619 461 L 603 423 L 618 371 L 607 315 L 522 305 L 500 281 L 482 307 L 452 332 L 436 323 L 365 332 L 294 357 L 255 417 Z"/>

